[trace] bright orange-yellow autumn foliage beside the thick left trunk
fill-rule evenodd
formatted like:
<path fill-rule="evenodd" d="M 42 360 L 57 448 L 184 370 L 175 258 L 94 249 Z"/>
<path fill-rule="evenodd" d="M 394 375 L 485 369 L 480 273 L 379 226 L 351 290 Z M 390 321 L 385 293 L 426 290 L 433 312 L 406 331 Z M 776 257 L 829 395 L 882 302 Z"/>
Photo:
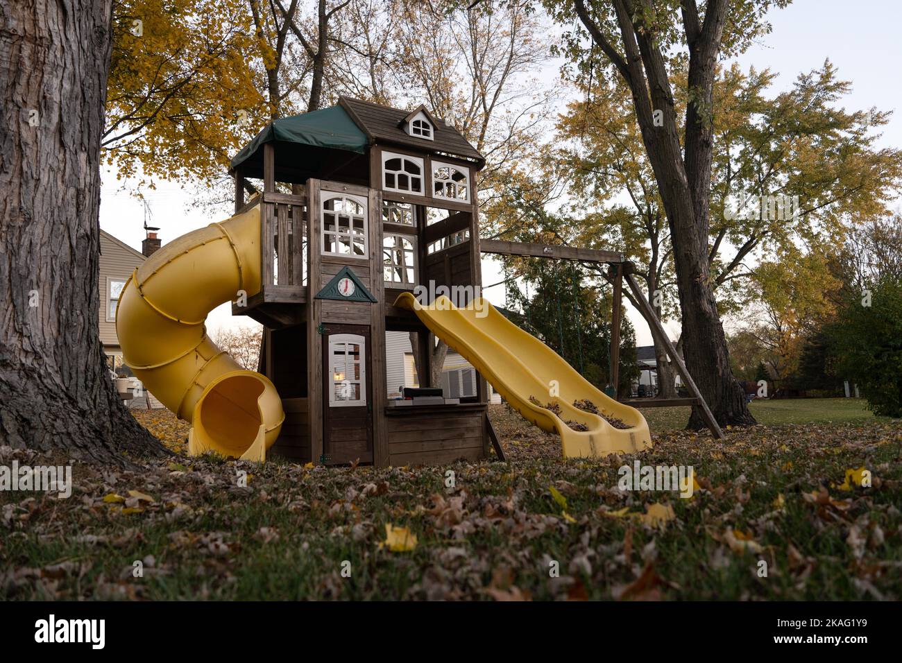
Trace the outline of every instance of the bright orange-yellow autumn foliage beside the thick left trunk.
<path fill-rule="evenodd" d="M 270 115 L 247 1 L 115 4 L 101 144 L 119 179 L 208 184 Z"/>

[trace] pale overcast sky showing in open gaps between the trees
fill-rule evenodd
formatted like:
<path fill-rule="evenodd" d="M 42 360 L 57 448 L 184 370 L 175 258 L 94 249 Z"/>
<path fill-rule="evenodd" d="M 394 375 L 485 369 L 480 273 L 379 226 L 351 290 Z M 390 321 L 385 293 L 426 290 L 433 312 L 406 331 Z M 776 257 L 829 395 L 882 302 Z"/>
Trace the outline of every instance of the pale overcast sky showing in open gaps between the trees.
<path fill-rule="evenodd" d="M 782 91 L 792 86 L 800 72 L 821 67 L 829 57 L 840 77 L 852 82 L 851 94 L 844 104 L 846 108 L 859 110 L 876 106 L 882 111 L 894 111 L 881 143 L 902 145 L 902 115 L 899 114 L 902 90 L 898 73 L 902 60 L 898 34 L 902 2 L 861 0 L 850 4 L 840 0 L 796 0 L 785 10 L 771 12 L 769 21 L 773 32 L 739 59 L 743 68 L 754 66 L 778 72 L 774 90 Z M 543 73 L 546 77 L 557 76 L 557 65 L 549 66 Z M 144 237 L 142 202 L 122 188 L 114 172 L 106 170 L 103 180 L 100 227 L 140 251 Z M 223 208 L 218 216 L 207 215 L 191 208 L 191 193 L 178 183 L 158 181 L 156 186 L 156 190 L 145 194 L 145 199 L 152 213 L 149 225 L 161 227 L 164 244 L 222 220 L 230 213 L 229 209 Z M 498 262 L 484 259 L 483 282 L 492 284 L 502 278 Z M 493 288 L 485 292 L 485 297 L 493 304 L 503 305 L 503 291 L 502 287 Z M 636 327 L 639 345 L 649 345 L 651 336 L 647 325 L 635 311 L 630 310 L 630 319 Z M 247 318 L 233 318 L 228 304 L 216 308 L 207 318 L 211 332 L 219 327 L 242 324 L 256 325 Z M 679 326 L 671 323 L 667 327 L 676 338 Z"/>

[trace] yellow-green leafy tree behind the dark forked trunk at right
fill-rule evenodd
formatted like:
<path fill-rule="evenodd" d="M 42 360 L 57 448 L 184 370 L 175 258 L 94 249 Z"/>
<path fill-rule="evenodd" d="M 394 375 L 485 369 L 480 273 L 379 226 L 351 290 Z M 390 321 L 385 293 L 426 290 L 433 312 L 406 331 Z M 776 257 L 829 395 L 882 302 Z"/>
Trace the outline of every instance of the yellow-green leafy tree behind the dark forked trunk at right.
<path fill-rule="evenodd" d="M 686 76 L 676 68 L 672 77 L 679 110 L 686 106 Z M 673 283 L 669 229 L 629 90 L 606 70 L 576 70 L 571 78 L 583 98 L 571 103 L 559 121 L 564 142 L 555 154 L 557 172 L 571 182 L 581 205 L 597 209 L 606 204 L 583 219 L 583 241 L 607 242 L 636 256 L 649 300 L 660 305 L 658 315 L 662 308 L 665 315 L 678 315 L 667 287 Z M 776 96 L 769 94 L 774 78 L 768 70 L 745 73 L 733 65 L 714 81 L 708 260 L 722 315 L 755 299 L 755 260 L 772 259 L 819 237 L 841 238 L 851 218 L 882 209 L 899 182 L 899 152 L 874 144 L 875 130 L 886 124 L 887 115 L 873 109 L 845 111 L 841 104 L 849 83 L 837 77 L 829 61 Z M 629 213 L 611 202 L 623 191 Z M 742 202 L 775 195 L 796 196 L 803 204 L 783 215 L 725 213 L 724 201 L 731 198 Z M 667 371 L 658 345 L 658 366 Z M 662 382 L 666 389 L 672 375 Z"/>

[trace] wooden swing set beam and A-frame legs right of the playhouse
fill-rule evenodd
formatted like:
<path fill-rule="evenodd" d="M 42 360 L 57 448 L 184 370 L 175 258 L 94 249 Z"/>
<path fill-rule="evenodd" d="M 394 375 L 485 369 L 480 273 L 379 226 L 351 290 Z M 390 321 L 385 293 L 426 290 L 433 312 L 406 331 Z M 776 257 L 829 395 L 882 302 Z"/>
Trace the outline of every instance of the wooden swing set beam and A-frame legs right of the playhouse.
<path fill-rule="evenodd" d="M 686 383 L 686 388 L 692 394 L 688 398 L 675 399 L 628 399 L 621 401 L 631 407 L 642 408 L 670 408 L 680 405 L 691 405 L 698 408 L 704 419 L 705 424 L 711 430 L 713 437 L 723 439 L 723 430 L 714 419 L 711 408 L 708 407 L 706 401 L 702 397 L 701 391 L 692 379 L 692 375 L 686 369 L 686 364 L 682 357 L 676 354 L 676 347 L 671 343 L 667 332 L 661 325 L 660 320 L 655 315 L 654 309 L 651 307 L 649 300 L 642 293 L 639 283 L 633 276 L 635 265 L 626 260 L 622 253 L 613 251 L 600 251 L 597 249 L 583 249 L 573 246 L 561 246 L 559 244 L 536 244 L 527 242 L 508 242 L 497 239 L 483 239 L 480 241 L 479 249 L 481 253 L 492 253 L 495 255 L 513 255 L 529 258 L 550 258 L 557 260 L 566 260 L 573 262 L 594 262 L 604 263 L 608 265 L 608 277 L 613 284 L 613 305 L 611 311 L 611 368 L 610 380 L 615 386 L 620 378 L 620 327 L 622 311 L 622 292 L 623 282 L 626 281 L 627 287 L 633 295 L 633 299 L 639 304 L 639 312 L 642 318 L 649 324 L 649 330 L 655 340 L 658 341 L 667 350 L 667 357 L 676 366 L 676 372 Z"/>

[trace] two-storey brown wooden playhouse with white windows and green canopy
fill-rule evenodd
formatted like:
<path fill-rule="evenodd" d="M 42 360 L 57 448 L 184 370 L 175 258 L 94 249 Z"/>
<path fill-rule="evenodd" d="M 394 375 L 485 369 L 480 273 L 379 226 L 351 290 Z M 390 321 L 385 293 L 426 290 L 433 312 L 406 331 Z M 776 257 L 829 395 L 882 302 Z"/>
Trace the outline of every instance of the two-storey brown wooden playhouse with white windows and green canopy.
<path fill-rule="evenodd" d="M 423 106 L 345 97 L 272 121 L 235 156 L 236 213 L 262 203 L 262 290 L 233 314 L 264 326 L 259 370 L 286 415 L 272 453 L 380 466 L 489 454 L 484 380 L 474 398 L 397 407 L 385 349 L 386 331 L 417 332 L 428 386 L 435 337 L 393 302 L 419 284 L 482 284 L 474 183 L 484 162 Z M 248 179 L 262 191 L 245 202 Z"/>

